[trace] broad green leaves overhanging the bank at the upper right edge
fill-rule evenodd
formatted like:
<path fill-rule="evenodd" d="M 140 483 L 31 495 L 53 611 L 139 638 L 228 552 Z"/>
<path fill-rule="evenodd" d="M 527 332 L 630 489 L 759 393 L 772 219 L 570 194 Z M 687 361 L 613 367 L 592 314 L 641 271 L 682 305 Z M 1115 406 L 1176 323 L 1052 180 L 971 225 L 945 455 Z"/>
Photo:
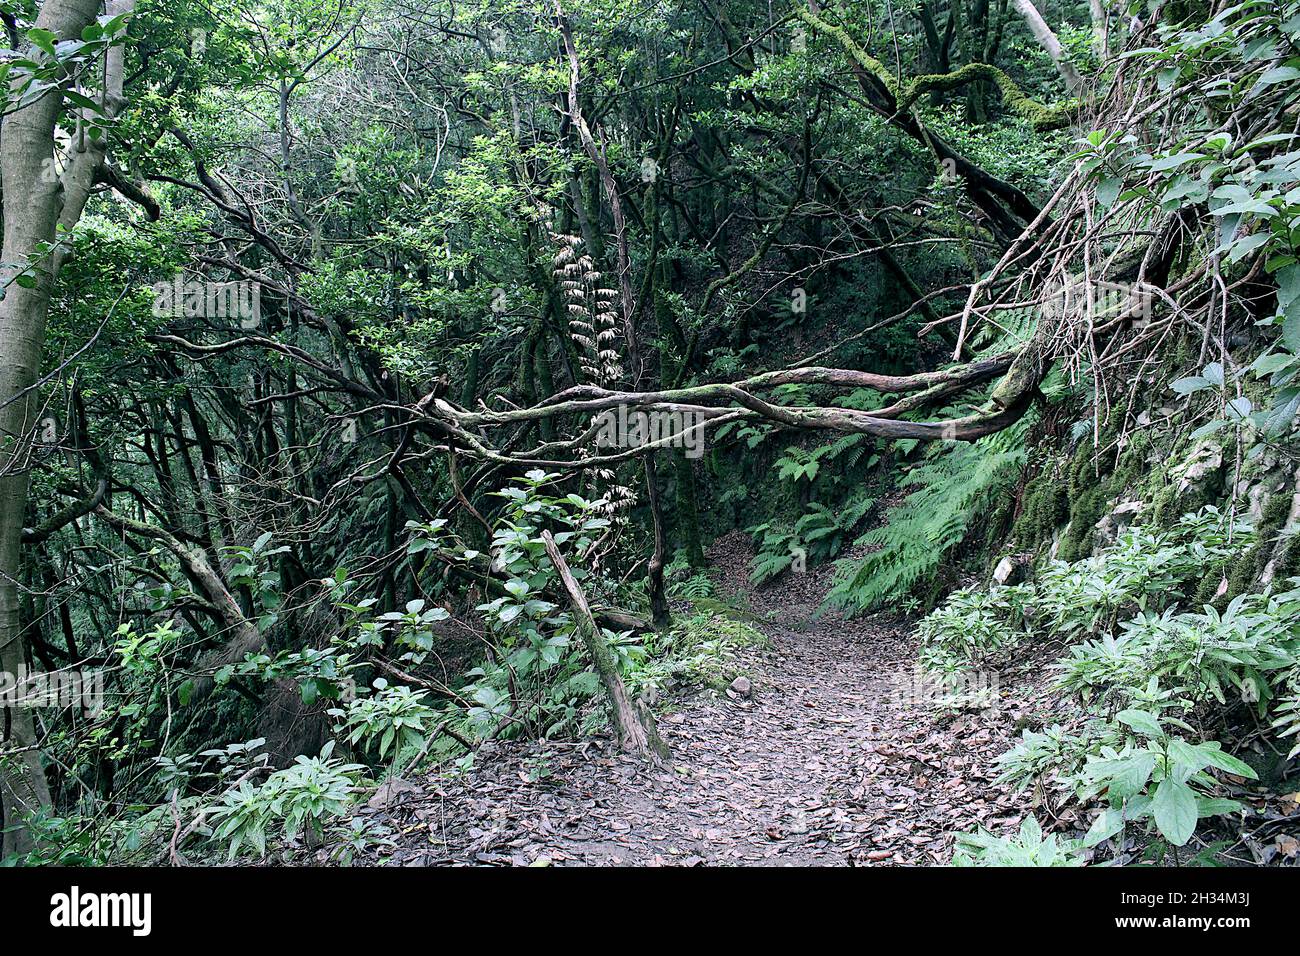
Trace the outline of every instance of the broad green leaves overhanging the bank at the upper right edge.
<path fill-rule="evenodd" d="M 1208 213 L 1205 242 L 1210 255 L 1228 271 L 1262 267 L 1277 287 L 1273 315 L 1257 324 L 1279 332 L 1277 341 L 1251 363 L 1273 386 L 1269 407 L 1256 407 L 1243 394 L 1238 376 L 1221 362 L 1199 375 L 1178 378 L 1180 394 L 1205 392 L 1216 399 L 1212 418 L 1197 429 L 1204 437 L 1225 428 L 1257 428 L 1265 440 L 1288 432 L 1300 407 L 1300 264 L 1295 233 L 1300 225 L 1300 151 L 1295 135 L 1265 122 L 1245 135 L 1218 117 L 1249 103 L 1268 117 L 1286 109 L 1297 65 L 1284 59 L 1286 44 L 1300 34 L 1295 3 L 1232 4 L 1204 23 L 1171 22 L 1160 42 L 1132 51 L 1136 69 L 1154 77 L 1171 103 L 1183 96 L 1204 99 L 1205 109 L 1191 111 L 1158 150 L 1130 130 L 1097 129 L 1078 153 L 1080 170 L 1095 182 L 1098 206 L 1113 215 Z M 1277 116 L 1273 112 L 1273 116 Z M 1195 212 L 1193 212 L 1195 211 Z M 1216 277 L 1218 269 L 1214 271 Z M 1202 356 L 1204 360 L 1204 356 Z M 1200 363 L 1197 363 L 1200 365 Z M 1252 454 L 1260 454 L 1257 445 Z"/>

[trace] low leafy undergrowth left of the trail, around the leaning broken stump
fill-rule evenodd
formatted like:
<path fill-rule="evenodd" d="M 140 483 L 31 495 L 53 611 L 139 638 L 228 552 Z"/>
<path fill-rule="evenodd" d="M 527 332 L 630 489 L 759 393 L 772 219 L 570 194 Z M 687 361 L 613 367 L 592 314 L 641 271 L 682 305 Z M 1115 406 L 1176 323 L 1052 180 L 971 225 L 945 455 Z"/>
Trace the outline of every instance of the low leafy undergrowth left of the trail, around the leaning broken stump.
<path fill-rule="evenodd" d="M 477 622 L 469 627 L 481 628 L 477 641 L 488 653 L 477 666 L 446 683 L 412 678 L 408 671 L 438 659 L 437 632 L 450 613 L 424 600 L 380 611 L 377 600 L 355 596 L 355 581 L 339 568 L 324 581 L 322 600 L 344 626 L 328 646 L 250 654 L 217 675 L 218 684 L 282 682 L 304 700 L 328 702 L 333 739 L 318 756 L 276 769 L 265 739 L 198 753 L 173 749 L 156 761 L 155 808 L 110 813 L 84 805 L 75 814 L 39 817 L 40 848 L 8 862 L 152 865 L 273 856 L 346 865 L 359 852 L 391 844 L 382 825 L 359 813 L 385 780 L 428 766 L 471 773 L 485 740 L 545 741 L 606 730 L 599 679 L 576 640 L 572 614 L 546 600 L 555 570 L 545 558 L 541 531 L 552 531 L 572 555 L 575 575 L 599 588 L 607 583 L 582 564 L 610 519 L 602 499 L 550 494 L 556 479 L 534 471 L 499 493 L 510 506 L 494 529 L 491 561 L 508 579 L 503 593 L 474 607 Z M 445 522 L 412 522 L 407 532 L 406 555 L 413 563 L 474 567 L 485 557 L 465 548 Z M 259 542 L 242 555 L 248 575 L 266 576 L 270 596 L 277 581 L 257 568 L 274 553 Z M 737 652 L 767 641 L 742 607 L 714 596 L 708 576 L 681 563 L 672 579 L 670 593 L 681 611 L 672 628 L 604 630 L 623 679 L 645 700 L 722 691 L 744 675 Z M 176 652 L 169 646 L 174 637 L 165 627 L 147 635 L 124 630 L 118 653 L 142 680 L 152 682 Z M 378 646 L 400 650 L 395 666 L 374 667 L 370 650 Z M 143 713 L 139 721 L 143 732 Z"/>

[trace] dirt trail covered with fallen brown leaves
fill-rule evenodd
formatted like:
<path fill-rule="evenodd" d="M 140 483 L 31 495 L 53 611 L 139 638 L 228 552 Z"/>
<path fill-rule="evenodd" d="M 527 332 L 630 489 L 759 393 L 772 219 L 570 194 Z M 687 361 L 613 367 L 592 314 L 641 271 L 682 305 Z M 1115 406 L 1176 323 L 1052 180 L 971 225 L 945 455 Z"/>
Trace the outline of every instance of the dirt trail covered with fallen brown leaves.
<path fill-rule="evenodd" d="M 753 596 L 779 623 L 763 627 L 771 646 L 746 652 L 749 696 L 660 708 L 666 769 L 607 739 L 490 745 L 467 774 L 381 791 L 372 812 L 398 843 L 387 862 L 933 865 L 953 831 L 1018 823 L 993 760 L 1040 709 L 1040 669 L 1002 684 L 997 708 L 918 705 L 910 628 L 814 619 L 811 578 Z"/>

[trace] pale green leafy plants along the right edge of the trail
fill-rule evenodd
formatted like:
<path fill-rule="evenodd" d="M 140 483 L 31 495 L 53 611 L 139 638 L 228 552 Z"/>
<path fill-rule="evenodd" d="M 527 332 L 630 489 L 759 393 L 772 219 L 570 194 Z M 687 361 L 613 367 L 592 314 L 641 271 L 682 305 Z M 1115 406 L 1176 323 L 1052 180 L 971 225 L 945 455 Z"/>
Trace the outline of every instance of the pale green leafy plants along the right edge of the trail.
<path fill-rule="evenodd" d="M 1083 640 L 1056 665 L 1057 688 L 1093 714 L 1076 731 L 1026 731 L 1000 758 L 1001 779 L 1046 780 L 1082 801 L 1104 799 L 1083 840 L 1097 847 L 1136 829 L 1160 856 L 1186 845 L 1199 821 L 1240 805 L 1217 795 L 1219 770 L 1256 771 L 1217 740 L 1190 740 L 1210 702 L 1262 717 L 1292 695 L 1300 663 L 1300 593 L 1239 594 L 1219 611 L 1182 611 L 1190 583 L 1249 548 L 1248 527 L 1206 507 L 1167 531 L 1131 528 L 1084 561 L 1052 562 L 1034 584 L 959 592 L 922 624 L 922 659 L 936 667 L 980 661 L 988 648 L 1052 635 Z M 1275 709 L 1286 728 L 1294 697 Z M 1001 845 L 1001 844 L 998 844 Z M 1005 848 L 1004 848 L 1005 849 Z M 971 857 L 976 860 L 976 857 Z"/>

